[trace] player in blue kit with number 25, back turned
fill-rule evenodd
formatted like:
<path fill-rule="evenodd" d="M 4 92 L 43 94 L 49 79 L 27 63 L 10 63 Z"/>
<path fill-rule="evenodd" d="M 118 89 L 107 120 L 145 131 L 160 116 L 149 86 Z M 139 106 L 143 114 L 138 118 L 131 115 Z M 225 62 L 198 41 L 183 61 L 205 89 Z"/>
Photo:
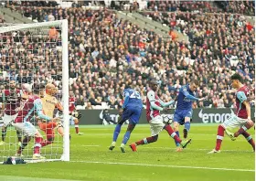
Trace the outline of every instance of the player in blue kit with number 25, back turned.
<path fill-rule="evenodd" d="M 118 135 L 121 131 L 123 122 L 125 122 L 126 120 L 129 120 L 126 133 L 123 136 L 123 142 L 120 146 L 121 151 L 125 153 L 124 146 L 130 139 L 130 135 L 133 132 L 134 127 L 140 120 L 142 110 L 143 110 L 143 101 L 141 99 L 140 93 L 138 91 L 134 91 L 130 87 L 127 87 L 127 89 L 123 91 L 123 97 L 124 97 L 123 107 L 120 110 L 121 118 L 115 126 L 113 136 L 112 136 L 112 144 L 110 145 L 109 149 L 113 150 L 113 148 L 115 147 Z"/>

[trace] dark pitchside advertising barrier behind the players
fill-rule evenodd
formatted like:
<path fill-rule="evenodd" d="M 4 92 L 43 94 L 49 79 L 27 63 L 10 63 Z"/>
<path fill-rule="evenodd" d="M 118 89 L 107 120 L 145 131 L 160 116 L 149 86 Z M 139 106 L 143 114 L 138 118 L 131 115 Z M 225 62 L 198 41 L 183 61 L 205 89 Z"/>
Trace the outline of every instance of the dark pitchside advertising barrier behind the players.
<path fill-rule="evenodd" d="M 112 121 L 117 122 L 119 114 L 118 110 L 109 110 Z M 170 110 L 170 114 L 173 115 L 175 110 Z M 223 109 L 194 109 L 192 123 L 220 123 L 227 120 L 234 109 L 223 108 Z M 80 110 L 82 117 L 80 119 L 80 124 L 106 124 L 103 123 L 102 110 Z M 255 122 L 255 108 L 251 109 L 251 117 L 253 122 Z M 112 122 L 110 122 L 112 124 Z M 139 123 L 147 123 L 145 117 L 145 110 L 142 113 L 142 117 Z"/>

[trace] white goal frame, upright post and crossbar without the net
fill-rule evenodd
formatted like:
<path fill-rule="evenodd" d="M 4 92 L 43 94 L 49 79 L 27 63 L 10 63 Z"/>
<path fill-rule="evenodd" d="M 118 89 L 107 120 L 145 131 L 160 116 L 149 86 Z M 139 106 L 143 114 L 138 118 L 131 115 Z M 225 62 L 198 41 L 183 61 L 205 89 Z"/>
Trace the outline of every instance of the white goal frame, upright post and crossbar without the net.
<path fill-rule="evenodd" d="M 63 99 L 63 154 L 61 161 L 69 161 L 69 37 L 68 37 L 68 20 L 58 20 L 43 23 L 19 24 L 9 27 L 0 27 L 0 33 L 17 31 L 22 29 L 37 27 L 54 27 L 59 26 L 61 29 L 61 45 L 62 45 L 62 99 Z M 58 159 L 59 160 L 59 159 Z M 55 161 L 55 160 L 46 160 Z"/>

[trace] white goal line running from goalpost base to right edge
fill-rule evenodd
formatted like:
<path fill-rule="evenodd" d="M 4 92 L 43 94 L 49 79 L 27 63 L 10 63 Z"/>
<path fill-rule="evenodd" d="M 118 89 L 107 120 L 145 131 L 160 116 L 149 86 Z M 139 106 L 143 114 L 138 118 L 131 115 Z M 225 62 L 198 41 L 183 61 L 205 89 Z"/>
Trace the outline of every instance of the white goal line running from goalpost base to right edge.
<path fill-rule="evenodd" d="M 202 166 L 152 165 L 152 164 L 136 164 L 136 163 L 122 163 L 122 162 L 90 162 L 90 161 L 70 161 L 70 162 L 87 163 L 87 164 L 103 164 L 103 165 L 139 165 L 139 166 L 152 166 L 152 167 L 172 167 L 172 168 L 190 168 L 190 169 L 205 169 L 205 170 L 255 172 L 255 170 L 249 170 L 249 169 L 213 168 L 213 167 L 202 167 Z"/>

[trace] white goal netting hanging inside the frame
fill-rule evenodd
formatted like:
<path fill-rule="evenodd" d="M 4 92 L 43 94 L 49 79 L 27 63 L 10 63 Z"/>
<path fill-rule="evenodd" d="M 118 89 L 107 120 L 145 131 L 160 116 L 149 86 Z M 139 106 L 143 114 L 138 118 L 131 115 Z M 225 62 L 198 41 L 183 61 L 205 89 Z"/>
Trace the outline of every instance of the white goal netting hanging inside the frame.
<path fill-rule="evenodd" d="M 59 88 L 56 98 L 59 101 L 62 99 L 63 45 L 61 39 L 61 23 L 49 24 L 47 26 L 44 23 L 35 25 L 29 27 L 28 25 L 0 24 L 0 93 L 2 98 L 1 104 L 5 104 L 5 110 L 8 109 L 6 108 L 6 103 L 12 99 L 12 105 L 16 101 L 15 107 L 20 107 L 21 105 L 19 103 L 22 102 L 20 101 L 22 99 L 19 99 L 20 95 L 17 92 L 13 93 L 14 91 L 11 90 L 10 84 L 12 81 L 16 82 L 16 90 L 22 90 L 25 87 L 31 88 L 36 84 L 46 85 L 47 83 L 53 83 Z M 5 98 L 3 98 L 2 95 L 4 92 L 5 94 L 6 92 L 10 92 L 11 95 L 5 95 Z M 34 93 L 33 87 L 32 92 Z M 48 108 L 44 105 L 43 110 L 46 111 L 46 109 Z M 7 113 L 5 112 L 1 115 L 2 123 L 0 125 L 2 130 L 6 130 L 6 132 L 2 131 L 0 162 L 5 161 L 6 157 L 15 156 L 19 149 L 19 144 L 22 144 L 18 142 L 16 129 L 12 125 L 9 124 L 6 129 L 3 126 L 5 125 L 3 124 L 4 114 Z M 32 114 L 37 116 L 35 112 Z M 46 133 L 40 130 L 37 120 L 31 119 L 30 122 L 36 126 L 43 139 L 46 140 Z M 59 135 L 56 128 L 54 132 L 54 142 L 40 149 L 41 155 L 50 160 L 60 159 L 64 150 L 63 137 Z M 23 133 L 22 140 L 26 136 Z M 32 137 L 31 141 L 22 151 L 24 155 L 22 158 L 25 160 L 32 159 L 34 145 L 35 139 Z"/>

